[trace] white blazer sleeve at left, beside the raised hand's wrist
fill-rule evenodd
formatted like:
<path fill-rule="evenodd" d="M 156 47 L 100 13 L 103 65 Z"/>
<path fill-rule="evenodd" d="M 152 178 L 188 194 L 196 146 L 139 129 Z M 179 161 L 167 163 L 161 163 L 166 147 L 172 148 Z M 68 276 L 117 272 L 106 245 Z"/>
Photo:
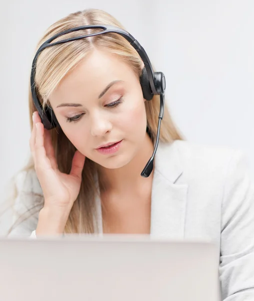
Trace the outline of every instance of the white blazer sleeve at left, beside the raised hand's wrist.
<path fill-rule="evenodd" d="M 35 171 L 20 172 L 15 178 L 16 196 L 12 205 L 8 236 L 34 238 L 38 214 L 43 207 L 43 194 Z"/>

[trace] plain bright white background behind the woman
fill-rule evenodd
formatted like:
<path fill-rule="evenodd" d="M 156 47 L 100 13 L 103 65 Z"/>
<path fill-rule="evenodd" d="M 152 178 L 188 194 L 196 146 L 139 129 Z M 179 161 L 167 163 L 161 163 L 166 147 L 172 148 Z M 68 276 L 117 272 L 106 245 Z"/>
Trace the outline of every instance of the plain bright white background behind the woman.
<path fill-rule="evenodd" d="M 112 14 L 164 72 L 169 108 L 186 139 L 243 149 L 254 175 L 253 0 L 11 0 L 0 6 L 0 202 L 28 158 L 35 45 L 56 20 L 87 8 Z"/>

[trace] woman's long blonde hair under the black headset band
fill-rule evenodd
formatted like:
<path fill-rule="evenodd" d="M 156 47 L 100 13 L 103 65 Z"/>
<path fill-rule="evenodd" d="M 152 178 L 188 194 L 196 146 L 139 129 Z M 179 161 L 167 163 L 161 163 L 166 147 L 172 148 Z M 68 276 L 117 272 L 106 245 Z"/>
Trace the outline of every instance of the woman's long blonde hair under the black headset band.
<path fill-rule="evenodd" d="M 65 30 L 84 26 L 84 25 L 112 25 L 119 28 L 123 26 L 108 13 L 88 9 L 72 13 L 65 18 L 51 25 L 37 45 L 39 46 L 53 35 Z M 98 31 L 89 29 L 86 31 L 71 32 L 63 37 L 58 37 L 54 42 L 60 39 L 80 36 Z M 118 59 L 133 69 L 136 76 L 140 76 L 143 62 L 134 48 L 123 37 L 115 33 L 97 35 L 85 39 L 80 39 L 44 49 L 38 56 L 36 63 L 35 85 L 39 93 L 40 101 L 43 107 L 49 104 L 50 94 L 57 87 L 63 77 L 74 68 L 92 49 L 103 49 L 113 53 Z M 36 50 L 37 50 L 36 49 Z M 154 69 L 153 69 L 154 70 Z M 155 71 L 155 70 L 154 70 Z M 30 88 L 30 87 L 29 87 Z M 30 89 L 29 89 L 30 91 Z M 29 116 L 30 127 L 32 128 L 32 113 L 35 111 L 31 93 L 29 92 Z M 154 141 L 157 131 L 157 122 L 159 114 L 159 96 L 155 95 L 150 101 L 145 102 L 147 116 L 147 128 L 149 135 Z M 71 160 L 75 152 L 75 147 L 67 139 L 61 129 L 50 130 L 52 144 L 55 149 L 55 157 L 58 168 L 63 173 L 69 173 Z M 160 138 L 162 142 L 172 142 L 176 139 L 182 139 L 169 115 L 167 106 L 164 108 L 164 116 L 161 121 Z M 62 149 L 66 150 L 62 152 Z M 30 158 L 27 166 L 23 170 L 34 169 L 33 160 Z M 96 225 L 94 216 L 96 216 L 95 194 L 96 187 L 94 175 L 96 173 L 96 164 L 91 160 L 85 160 L 82 182 L 79 195 L 75 200 L 66 222 L 65 233 L 94 233 Z M 41 196 L 41 206 L 43 206 L 43 196 Z"/>

